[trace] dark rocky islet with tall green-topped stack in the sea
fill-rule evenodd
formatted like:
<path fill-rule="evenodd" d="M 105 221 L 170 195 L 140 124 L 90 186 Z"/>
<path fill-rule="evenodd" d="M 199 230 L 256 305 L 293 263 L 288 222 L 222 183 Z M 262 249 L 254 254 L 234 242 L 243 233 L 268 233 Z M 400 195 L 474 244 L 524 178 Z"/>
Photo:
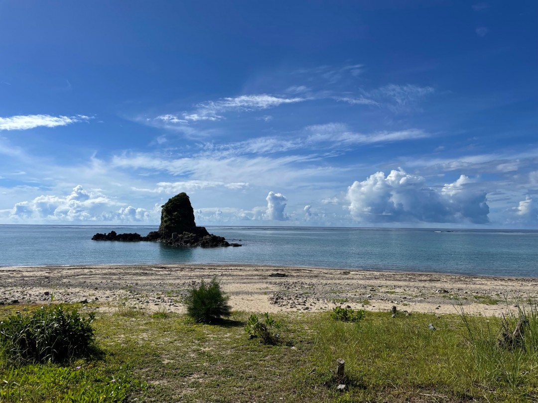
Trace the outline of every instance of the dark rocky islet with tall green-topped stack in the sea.
<path fill-rule="evenodd" d="M 168 200 L 161 210 L 159 231 L 152 231 L 146 236 L 140 234 L 95 234 L 94 241 L 158 241 L 171 246 L 214 248 L 219 246 L 241 246 L 230 243 L 222 236 L 207 232 L 205 227 L 197 227 L 194 222 L 194 209 L 187 193 L 179 193 Z"/>

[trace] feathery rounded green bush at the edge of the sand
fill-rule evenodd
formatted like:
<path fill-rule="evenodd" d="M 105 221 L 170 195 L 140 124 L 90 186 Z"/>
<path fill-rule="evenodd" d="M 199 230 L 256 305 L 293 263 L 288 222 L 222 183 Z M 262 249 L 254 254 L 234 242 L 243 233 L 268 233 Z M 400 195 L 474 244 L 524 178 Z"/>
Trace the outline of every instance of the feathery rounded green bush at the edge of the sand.
<path fill-rule="evenodd" d="M 199 287 L 193 287 L 185 298 L 187 314 L 197 322 L 211 323 L 223 316 L 230 316 L 230 297 L 221 290 L 221 285 L 213 278 L 209 284 L 204 280 Z"/>

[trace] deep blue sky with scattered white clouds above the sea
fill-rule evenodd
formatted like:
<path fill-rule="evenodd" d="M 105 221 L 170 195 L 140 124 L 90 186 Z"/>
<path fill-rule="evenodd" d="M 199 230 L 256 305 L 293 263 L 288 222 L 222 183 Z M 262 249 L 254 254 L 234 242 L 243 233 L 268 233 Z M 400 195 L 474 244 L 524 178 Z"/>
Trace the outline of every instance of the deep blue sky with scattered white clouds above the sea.
<path fill-rule="evenodd" d="M 538 2 L 0 0 L 0 224 L 538 228 Z"/>

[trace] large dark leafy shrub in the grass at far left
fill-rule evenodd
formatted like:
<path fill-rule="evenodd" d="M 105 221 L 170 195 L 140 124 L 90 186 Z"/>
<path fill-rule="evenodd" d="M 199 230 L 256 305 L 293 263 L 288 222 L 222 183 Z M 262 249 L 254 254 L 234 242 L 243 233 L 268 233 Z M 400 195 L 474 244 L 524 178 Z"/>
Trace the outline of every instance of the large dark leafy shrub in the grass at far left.
<path fill-rule="evenodd" d="M 66 362 L 93 345 L 91 322 L 62 305 L 43 306 L 33 313 L 17 312 L 0 321 L 0 350 L 12 362 Z"/>

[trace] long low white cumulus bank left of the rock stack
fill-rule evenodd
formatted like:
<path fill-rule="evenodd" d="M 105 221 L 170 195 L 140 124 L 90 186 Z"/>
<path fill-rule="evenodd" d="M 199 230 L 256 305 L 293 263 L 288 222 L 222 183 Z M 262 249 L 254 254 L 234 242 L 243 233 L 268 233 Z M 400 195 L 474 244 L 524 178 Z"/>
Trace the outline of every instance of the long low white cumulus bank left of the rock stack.
<path fill-rule="evenodd" d="M 3 215 L 13 222 L 147 222 L 158 217 L 158 205 L 153 210 L 135 208 L 114 202 L 98 191 L 75 186 L 66 196 L 41 195 L 31 201 L 15 204 Z"/>

